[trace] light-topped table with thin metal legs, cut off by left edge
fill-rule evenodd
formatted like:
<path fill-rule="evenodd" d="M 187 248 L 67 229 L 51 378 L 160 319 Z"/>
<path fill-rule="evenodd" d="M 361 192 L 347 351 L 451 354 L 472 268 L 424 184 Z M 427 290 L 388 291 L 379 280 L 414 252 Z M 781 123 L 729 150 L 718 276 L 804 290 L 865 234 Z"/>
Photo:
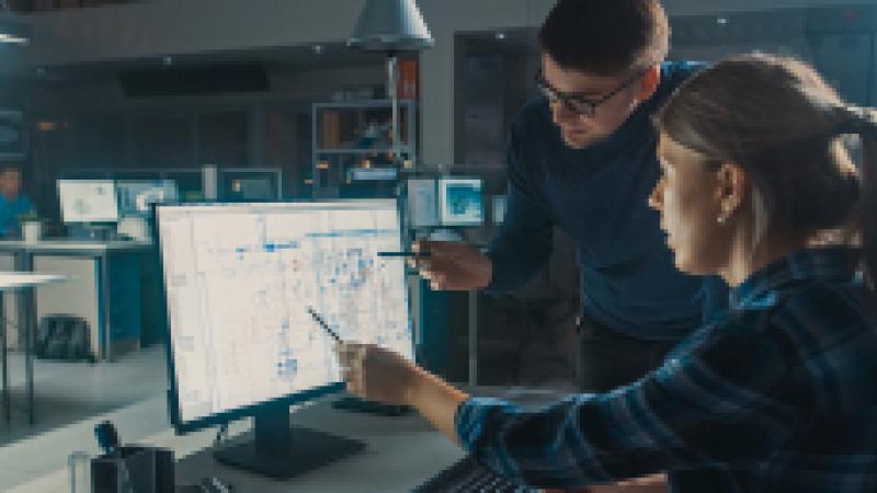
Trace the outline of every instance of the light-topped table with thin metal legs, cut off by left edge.
<path fill-rule="evenodd" d="M 31 307 L 33 303 L 32 290 L 36 286 L 66 280 L 65 276 L 53 274 L 35 273 L 0 273 L 0 291 L 20 290 L 24 294 L 20 298 L 24 299 L 24 306 Z M 0 314 L 3 313 L 3 298 L 0 296 Z M 25 313 L 29 311 L 25 310 Z M 12 403 L 9 392 L 9 368 L 7 365 L 7 326 L 5 319 L 0 317 L 0 331 L 2 331 L 2 356 L 3 356 L 3 414 L 7 424 L 12 421 Z M 34 320 L 32 317 L 24 317 L 24 378 L 27 387 L 27 420 L 34 424 Z"/>

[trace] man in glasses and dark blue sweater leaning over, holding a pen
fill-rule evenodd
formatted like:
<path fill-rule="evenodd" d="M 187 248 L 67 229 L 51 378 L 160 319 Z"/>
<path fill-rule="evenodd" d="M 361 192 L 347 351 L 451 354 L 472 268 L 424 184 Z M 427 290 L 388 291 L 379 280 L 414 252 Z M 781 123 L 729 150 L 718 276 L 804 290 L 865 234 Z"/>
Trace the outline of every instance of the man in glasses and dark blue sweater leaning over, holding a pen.
<path fill-rule="evenodd" d="M 651 115 L 697 69 L 663 64 L 669 33 L 658 0 L 559 0 L 539 32 L 542 96 L 512 124 L 509 207 L 490 252 L 414 245 L 431 252 L 418 265 L 433 288 L 502 293 L 544 266 L 553 227 L 569 233 L 582 391 L 638 379 L 702 321 L 704 280 L 676 271 L 647 204 L 660 174 Z"/>

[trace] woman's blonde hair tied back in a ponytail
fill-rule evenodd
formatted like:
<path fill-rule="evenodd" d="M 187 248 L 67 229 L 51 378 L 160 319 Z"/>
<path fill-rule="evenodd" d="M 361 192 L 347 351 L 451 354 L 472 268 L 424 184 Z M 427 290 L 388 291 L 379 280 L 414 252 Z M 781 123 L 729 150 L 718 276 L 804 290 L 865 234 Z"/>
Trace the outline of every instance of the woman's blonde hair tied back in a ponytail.
<path fill-rule="evenodd" d="M 747 55 L 693 76 L 657 116 L 707 165 L 733 162 L 752 182 L 755 242 L 764 231 L 812 238 L 853 229 L 868 286 L 877 276 L 877 117 L 846 104 L 810 66 Z M 841 137 L 859 136 L 862 170 Z"/>

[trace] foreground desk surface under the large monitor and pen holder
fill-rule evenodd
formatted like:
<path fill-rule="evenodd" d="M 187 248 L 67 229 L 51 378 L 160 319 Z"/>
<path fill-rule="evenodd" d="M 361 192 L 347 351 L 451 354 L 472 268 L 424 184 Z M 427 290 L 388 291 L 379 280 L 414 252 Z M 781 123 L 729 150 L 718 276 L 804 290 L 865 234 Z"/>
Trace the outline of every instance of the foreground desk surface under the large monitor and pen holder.
<path fill-rule="evenodd" d="M 573 390 L 569 387 L 554 390 L 470 389 L 476 395 L 509 398 L 522 405 L 533 408 L 555 402 L 560 395 L 568 394 Z M 136 443 L 172 449 L 178 459 L 178 484 L 185 484 L 185 482 L 201 479 L 204 475 L 215 475 L 235 484 L 239 493 L 409 492 L 464 457 L 457 446 L 444 435 L 434 432 L 415 414 L 384 417 L 338 411 L 329 405 L 337 398 L 338 395 L 330 395 L 314 405 L 296 411 L 292 415 L 292 424 L 364 440 L 367 444 L 366 450 L 289 481 L 274 481 L 217 465 L 213 460 L 210 451 L 207 450 L 216 434 L 215 429 L 176 436 L 170 427 L 166 427 L 161 432 L 137 435 L 145 438 L 137 439 Z M 133 406 L 95 416 L 93 420 L 48 432 L 45 436 L 33 440 L 24 440 L 11 447 L 0 448 L 0 468 L 4 463 L 14 463 L 22 454 L 29 456 L 37 454 L 37 451 L 42 465 L 57 465 L 55 469 L 41 468 L 41 472 L 35 473 L 32 480 L 11 488 L 8 493 L 69 491 L 67 456 L 75 449 L 86 450 L 92 456 L 98 454 L 93 426 L 104 420 L 113 421 L 121 426 L 123 440 L 126 434 L 136 433 L 132 432 L 132 427 L 146 426 L 148 429 L 161 429 L 152 427 L 146 422 L 160 423 L 167 420 L 167 399 L 163 395 L 157 395 Z M 229 434 L 240 436 L 249 428 L 250 420 L 241 420 L 229 426 Z M 46 450 L 47 444 L 53 444 L 49 450 Z M 59 449 L 57 444 L 64 445 Z"/>

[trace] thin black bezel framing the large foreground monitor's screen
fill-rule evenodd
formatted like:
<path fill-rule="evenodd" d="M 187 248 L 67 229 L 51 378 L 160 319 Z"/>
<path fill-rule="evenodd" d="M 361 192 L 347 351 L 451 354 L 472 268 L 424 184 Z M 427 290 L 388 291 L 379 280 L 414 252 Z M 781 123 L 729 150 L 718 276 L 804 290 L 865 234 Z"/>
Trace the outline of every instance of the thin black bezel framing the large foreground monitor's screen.
<path fill-rule="evenodd" d="M 212 207 L 219 207 L 223 205 L 284 205 L 284 204 L 344 204 L 344 203 L 366 203 L 366 202 L 375 202 L 381 200 L 387 203 L 394 203 L 396 206 L 396 216 L 397 221 L 399 223 L 399 242 L 400 244 L 405 244 L 405 231 L 403 225 L 401 222 L 401 210 L 400 204 L 398 198 L 350 198 L 350 199 L 304 199 L 304 200 L 244 200 L 244 202 L 236 202 L 236 200 L 213 200 L 213 202 L 194 202 L 194 203 L 184 203 L 184 202 L 176 202 L 176 203 L 168 203 L 168 204 L 152 204 L 152 215 L 155 217 L 155 221 L 152 221 L 151 229 L 152 229 L 152 238 L 156 239 L 156 248 L 153 249 L 155 255 L 158 260 L 159 265 L 159 273 L 160 273 L 160 290 L 161 296 L 159 297 L 159 302 L 161 305 L 161 309 L 166 314 L 167 326 L 166 329 L 166 349 L 167 349 L 167 357 L 168 357 L 168 381 L 170 388 L 168 389 L 168 411 L 170 413 L 171 424 L 178 435 L 185 435 L 189 433 L 197 432 L 210 426 L 217 426 L 230 423 L 232 421 L 238 421 L 244 417 L 251 417 L 259 413 L 265 406 L 270 405 L 277 405 L 277 404 L 285 404 L 285 405 L 295 405 L 301 404 L 305 402 L 314 401 L 316 399 L 330 395 L 333 393 L 339 393 L 344 390 L 343 382 L 332 382 L 326 386 L 316 387 L 312 389 L 304 390 L 301 392 L 296 392 L 289 395 L 280 397 L 275 399 L 270 399 L 266 401 L 258 402 L 251 405 L 246 405 L 241 408 L 236 408 L 234 410 L 228 410 L 221 413 L 210 414 L 205 417 L 200 417 L 197 420 L 192 421 L 183 421 L 182 414 L 180 412 L 180 402 L 179 402 L 179 393 L 178 393 L 178 385 L 176 385 L 176 366 L 174 363 L 174 353 L 173 353 L 173 342 L 171 340 L 171 319 L 170 312 L 168 307 L 168 291 L 167 291 L 167 272 L 164 271 L 164 257 L 162 254 L 162 244 L 161 244 L 161 233 L 159 225 L 161 222 L 160 214 L 161 209 L 164 208 L 174 208 L 174 207 L 198 207 L 198 206 L 212 206 Z M 411 321 L 411 297 L 408 293 L 408 283 L 405 282 L 406 291 L 406 310 L 408 311 L 408 319 L 409 319 L 409 330 L 412 331 L 411 333 L 411 353 L 417 357 L 417 339 L 415 334 L 413 333 L 413 325 Z"/>

